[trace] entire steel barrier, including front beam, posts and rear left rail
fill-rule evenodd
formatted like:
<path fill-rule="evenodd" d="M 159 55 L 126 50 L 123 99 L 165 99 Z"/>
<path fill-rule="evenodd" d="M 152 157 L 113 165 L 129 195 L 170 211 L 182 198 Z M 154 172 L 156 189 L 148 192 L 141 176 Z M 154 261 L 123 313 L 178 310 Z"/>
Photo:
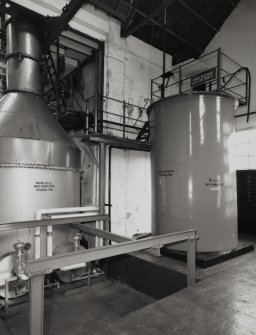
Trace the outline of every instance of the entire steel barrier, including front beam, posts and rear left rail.
<path fill-rule="evenodd" d="M 43 335 L 44 276 L 62 267 L 72 266 L 82 262 L 96 261 L 152 247 L 160 248 L 163 245 L 187 242 L 187 285 L 190 286 L 195 283 L 195 254 L 196 240 L 198 238 L 196 230 L 191 229 L 172 234 L 148 237 L 142 240 L 130 240 L 127 237 L 113 234 L 107 230 L 87 226 L 89 222 L 108 220 L 109 217 L 107 215 L 92 215 L 0 224 L 0 232 L 3 230 L 72 224 L 73 228 L 81 232 L 98 236 L 106 241 L 111 240 L 117 242 L 117 244 L 114 245 L 91 248 L 86 251 L 26 260 L 25 274 L 29 277 L 29 334 Z M 83 224 L 81 224 L 81 222 L 83 222 Z"/>

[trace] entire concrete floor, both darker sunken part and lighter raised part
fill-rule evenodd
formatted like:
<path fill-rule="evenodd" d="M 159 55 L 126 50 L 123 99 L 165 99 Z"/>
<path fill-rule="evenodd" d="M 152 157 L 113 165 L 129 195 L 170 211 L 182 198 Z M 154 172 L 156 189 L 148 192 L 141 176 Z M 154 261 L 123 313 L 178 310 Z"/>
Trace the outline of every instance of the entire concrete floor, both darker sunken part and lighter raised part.
<path fill-rule="evenodd" d="M 159 262 L 182 268 L 178 261 Z M 208 269 L 202 281 L 155 301 L 125 285 L 101 283 L 49 302 L 45 334 L 255 335 L 256 252 Z M 1 335 L 25 335 L 26 314 L 9 318 Z M 3 328 L 4 329 L 4 328 Z"/>

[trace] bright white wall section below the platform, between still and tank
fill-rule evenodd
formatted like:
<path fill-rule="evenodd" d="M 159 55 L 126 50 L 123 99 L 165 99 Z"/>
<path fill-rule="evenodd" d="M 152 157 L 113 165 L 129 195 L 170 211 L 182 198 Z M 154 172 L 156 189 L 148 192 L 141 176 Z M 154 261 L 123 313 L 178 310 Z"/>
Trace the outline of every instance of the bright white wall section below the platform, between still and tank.
<path fill-rule="evenodd" d="M 151 232 L 149 156 L 149 152 L 112 150 L 111 229 L 117 234 Z"/>

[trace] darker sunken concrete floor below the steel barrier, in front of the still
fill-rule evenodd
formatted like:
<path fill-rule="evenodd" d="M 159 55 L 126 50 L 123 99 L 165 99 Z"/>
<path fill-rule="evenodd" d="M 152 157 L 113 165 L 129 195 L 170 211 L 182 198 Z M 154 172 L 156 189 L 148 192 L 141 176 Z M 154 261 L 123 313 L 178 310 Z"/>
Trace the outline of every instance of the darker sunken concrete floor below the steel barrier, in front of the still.
<path fill-rule="evenodd" d="M 46 299 L 44 334 L 93 334 L 131 312 L 155 300 L 126 285 L 104 277 L 92 286 L 67 291 Z M 28 316 L 22 313 L 4 321 L 1 335 L 27 335 Z"/>

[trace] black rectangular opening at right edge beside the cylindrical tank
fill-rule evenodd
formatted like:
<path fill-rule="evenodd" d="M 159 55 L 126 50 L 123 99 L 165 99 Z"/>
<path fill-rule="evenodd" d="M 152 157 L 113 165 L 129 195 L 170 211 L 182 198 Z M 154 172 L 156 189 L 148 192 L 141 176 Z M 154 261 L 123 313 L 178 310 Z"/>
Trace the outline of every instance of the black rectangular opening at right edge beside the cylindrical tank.
<path fill-rule="evenodd" d="M 237 171 L 238 233 L 256 235 L 256 170 Z"/>

